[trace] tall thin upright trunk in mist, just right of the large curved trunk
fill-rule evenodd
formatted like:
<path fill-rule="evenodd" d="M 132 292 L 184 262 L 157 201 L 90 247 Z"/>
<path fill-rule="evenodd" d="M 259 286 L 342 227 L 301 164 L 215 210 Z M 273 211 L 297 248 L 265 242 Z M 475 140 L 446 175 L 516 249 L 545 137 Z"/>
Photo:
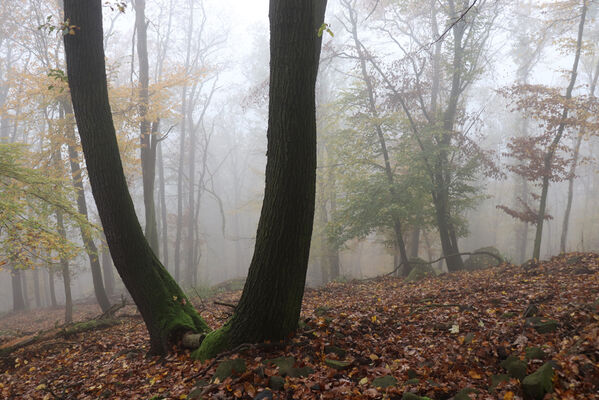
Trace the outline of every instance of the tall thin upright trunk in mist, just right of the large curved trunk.
<path fill-rule="evenodd" d="M 156 256 L 159 255 L 158 229 L 156 227 L 156 206 L 154 204 L 154 182 L 156 176 L 156 135 L 151 131 L 147 118 L 150 104 L 150 67 L 148 62 L 148 22 L 146 21 L 146 0 L 135 0 L 135 28 L 137 31 L 137 58 L 139 61 L 139 117 L 141 175 L 146 213 L 146 238 Z"/>

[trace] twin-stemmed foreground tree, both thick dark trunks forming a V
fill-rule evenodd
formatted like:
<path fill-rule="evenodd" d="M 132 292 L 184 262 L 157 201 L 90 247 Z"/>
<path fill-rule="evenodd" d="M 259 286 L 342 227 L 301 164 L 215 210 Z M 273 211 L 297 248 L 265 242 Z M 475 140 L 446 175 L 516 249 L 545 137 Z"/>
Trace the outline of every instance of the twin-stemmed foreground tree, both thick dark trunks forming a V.
<path fill-rule="evenodd" d="M 325 0 L 271 0 L 271 79 L 264 203 L 254 257 L 231 321 L 197 356 L 283 339 L 298 323 L 314 217 L 314 88 Z M 68 82 L 88 175 L 115 267 L 163 354 L 186 331 L 206 332 L 150 248 L 129 194 L 108 101 L 100 0 L 65 0 Z"/>

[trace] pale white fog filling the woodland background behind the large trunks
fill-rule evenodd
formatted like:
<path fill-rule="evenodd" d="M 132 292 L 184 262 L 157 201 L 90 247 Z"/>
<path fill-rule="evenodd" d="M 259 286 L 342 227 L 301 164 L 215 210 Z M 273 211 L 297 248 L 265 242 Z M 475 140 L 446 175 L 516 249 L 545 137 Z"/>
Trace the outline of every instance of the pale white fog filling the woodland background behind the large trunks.
<path fill-rule="evenodd" d="M 572 75 L 580 6 L 534 0 L 478 0 L 470 5 L 453 0 L 329 0 L 325 21 L 330 32 L 322 32 L 316 88 L 318 180 L 307 285 L 393 271 L 400 263 L 394 219 L 401 220 L 410 257 L 431 261 L 444 255 L 430 196 L 437 189 L 426 170 L 427 160 L 439 152 L 447 152 L 451 170 L 447 213 L 457 238 L 454 247 L 472 252 L 492 246 L 517 264 L 532 258 L 536 224 L 498 206 L 520 216 L 528 207 L 536 215 L 541 179 L 532 172 L 519 175 L 513 167 L 522 163 L 535 170 L 542 157 L 518 160 L 520 153 L 510 143 L 513 138 L 544 137 L 535 142 L 535 149 L 545 148 L 546 138 L 555 137 L 557 114 L 547 117 L 554 124 L 548 127 L 547 119 L 538 116 L 554 111 L 552 106 L 535 111 L 534 105 L 517 104 L 516 96 L 522 98 L 523 90 L 509 93 L 514 85 L 530 85 L 539 90 L 538 98 L 545 93 L 540 87 L 564 96 Z M 597 4 L 590 2 L 572 92 L 573 98 L 590 102 L 599 62 L 597 11 Z M 129 2 L 106 2 L 104 32 L 121 156 L 145 227 L 135 13 Z M 159 121 L 152 133 L 157 138 L 154 203 L 159 258 L 188 294 L 201 294 L 219 283 L 244 278 L 254 249 L 266 164 L 268 2 L 156 0 L 147 3 L 145 14 L 148 119 Z M 59 104 L 68 88 L 53 72 L 66 70 L 62 34 L 69 32 L 63 32 L 60 15 L 55 1 L 0 4 L 0 141 L 24 144 L 30 156 L 21 160 L 23 166 L 53 178 L 62 174 L 63 185 L 69 186 L 67 146 L 79 145 L 65 140 L 68 116 Z M 456 26 L 464 35 L 457 66 Z M 461 72 L 454 93 L 456 70 Z M 452 96 L 456 110 L 451 139 L 442 147 L 437 130 L 449 113 Z M 587 109 L 595 109 L 593 104 Z M 563 162 L 556 162 L 558 172 L 547 196 L 550 218 L 544 222 L 541 258 L 562 250 L 599 250 L 596 116 L 568 107 L 570 118 L 558 148 Z M 384 151 L 381 138 L 386 141 Z M 64 168 L 50 171 L 48 160 L 55 160 L 57 152 L 63 155 L 59 159 Z M 387 156 L 391 178 L 385 174 Z M 10 178 L 3 173 L 0 169 L 0 179 Z M 572 204 L 562 249 L 570 176 Z M 109 286 L 106 275 L 112 268 L 111 296 L 126 296 L 102 250 L 99 218 L 85 173 L 83 183 L 89 220 L 98 228 L 94 241 L 105 265 L 105 284 Z M 391 194 L 389 187 L 394 188 Z M 0 219 L 7 218 L 2 207 L 6 203 L 0 200 Z M 42 214 L 44 224 L 56 226 L 52 212 Z M 15 272 L 21 276 L 24 308 L 51 306 L 50 279 L 55 280 L 57 303 L 64 304 L 59 252 L 50 246 L 31 247 L 27 256 L 24 248 L 13 253 L 14 228 L 7 219 L 0 223 L 0 312 L 15 308 L 15 279 L 11 279 Z M 78 248 L 69 257 L 75 303 L 93 302 L 89 258 L 77 224 L 67 224 L 66 236 Z M 442 260 L 435 266 L 446 271 L 446 264 Z"/>

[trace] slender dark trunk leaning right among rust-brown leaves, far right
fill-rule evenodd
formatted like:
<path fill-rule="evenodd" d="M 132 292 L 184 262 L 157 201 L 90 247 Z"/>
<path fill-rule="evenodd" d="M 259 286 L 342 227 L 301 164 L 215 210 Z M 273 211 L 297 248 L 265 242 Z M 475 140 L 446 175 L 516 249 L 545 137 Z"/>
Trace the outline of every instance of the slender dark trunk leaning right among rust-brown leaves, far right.
<path fill-rule="evenodd" d="M 578 24 L 578 38 L 576 40 L 576 55 L 574 56 L 574 64 L 572 65 L 570 84 L 566 89 L 566 100 L 572 98 L 572 91 L 574 90 L 574 85 L 576 84 L 576 77 L 578 75 L 578 62 L 580 61 L 580 53 L 582 50 L 582 36 L 584 33 L 584 23 L 587 14 L 587 1 L 588 0 L 583 0 L 582 2 L 582 13 L 580 14 L 580 23 Z M 549 177 L 551 175 L 551 165 L 553 164 L 553 156 L 555 155 L 559 142 L 561 141 L 562 136 L 564 134 L 564 130 L 566 127 L 566 118 L 568 118 L 568 107 L 564 106 L 564 111 L 562 112 L 561 116 L 561 122 L 557 127 L 557 133 L 555 134 L 555 137 L 543 158 L 543 184 L 541 188 L 539 212 L 537 214 L 537 230 L 535 234 L 535 244 L 532 253 L 532 258 L 537 260 L 541 256 L 541 240 L 543 238 L 543 222 L 545 222 L 545 211 L 547 208 L 547 193 L 549 192 Z"/>

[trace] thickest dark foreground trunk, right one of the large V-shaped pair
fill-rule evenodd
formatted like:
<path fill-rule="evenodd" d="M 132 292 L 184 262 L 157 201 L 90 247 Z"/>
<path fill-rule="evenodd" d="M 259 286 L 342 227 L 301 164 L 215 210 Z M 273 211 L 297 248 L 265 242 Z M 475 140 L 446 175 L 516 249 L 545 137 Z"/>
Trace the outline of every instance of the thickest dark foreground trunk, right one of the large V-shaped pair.
<path fill-rule="evenodd" d="M 254 256 L 232 320 L 199 358 L 240 343 L 281 340 L 296 328 L 316 192 L 315 84 L 326 0 L 270 1 L 270 99 L 264 202 Z"/>

